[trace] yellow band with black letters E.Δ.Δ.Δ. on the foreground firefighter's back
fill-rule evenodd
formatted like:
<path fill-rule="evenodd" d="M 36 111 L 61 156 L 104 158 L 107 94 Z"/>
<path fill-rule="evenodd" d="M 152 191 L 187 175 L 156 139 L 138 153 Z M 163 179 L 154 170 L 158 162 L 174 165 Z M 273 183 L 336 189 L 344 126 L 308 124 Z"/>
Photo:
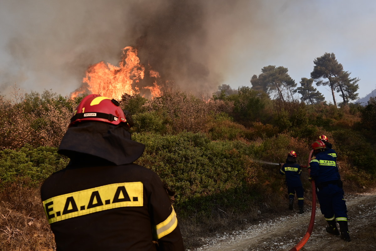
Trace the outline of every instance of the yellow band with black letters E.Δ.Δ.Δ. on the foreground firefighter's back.
<path fill-rule="evenodd" d="M 143 183 L 123 182 L 63 194 L 43 201 L 49 224 L 117 207 L 142 207 Z"/>

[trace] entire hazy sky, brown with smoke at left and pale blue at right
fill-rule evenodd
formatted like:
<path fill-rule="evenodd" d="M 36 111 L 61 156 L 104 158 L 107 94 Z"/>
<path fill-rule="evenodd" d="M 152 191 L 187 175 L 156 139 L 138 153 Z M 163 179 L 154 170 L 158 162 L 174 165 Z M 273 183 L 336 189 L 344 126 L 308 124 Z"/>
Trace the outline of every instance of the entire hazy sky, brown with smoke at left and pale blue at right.
<path fill-rule="evenodd" d="M 2 0 L 0 94 L 14 83 L 70 94 L 89 65 L 117 65 L 136 46 L 165 79 L 209 94 L 251 86 L 267 65 L 287 67 L 300 86 L 316 57 L 334 53 L 361 79 L 361 98 L 376 89 L 375 27 L 369 0 Z"/>

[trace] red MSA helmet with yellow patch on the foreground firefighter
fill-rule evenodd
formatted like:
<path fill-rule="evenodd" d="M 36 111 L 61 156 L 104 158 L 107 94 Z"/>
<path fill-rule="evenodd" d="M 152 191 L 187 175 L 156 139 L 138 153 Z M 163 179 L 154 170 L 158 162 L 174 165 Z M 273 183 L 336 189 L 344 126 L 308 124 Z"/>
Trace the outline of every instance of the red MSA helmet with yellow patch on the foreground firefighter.
<path fill-rule="evenodd" d="M 69 126 L 84 121 L 101 121 L 113 125 L 125 122 L 131 127 L 132 117 L 128 111 L 126 114 L 128 119 L 118 101 L 98 94 L 90 94 L 84 97 L 74 109 Z"/>

